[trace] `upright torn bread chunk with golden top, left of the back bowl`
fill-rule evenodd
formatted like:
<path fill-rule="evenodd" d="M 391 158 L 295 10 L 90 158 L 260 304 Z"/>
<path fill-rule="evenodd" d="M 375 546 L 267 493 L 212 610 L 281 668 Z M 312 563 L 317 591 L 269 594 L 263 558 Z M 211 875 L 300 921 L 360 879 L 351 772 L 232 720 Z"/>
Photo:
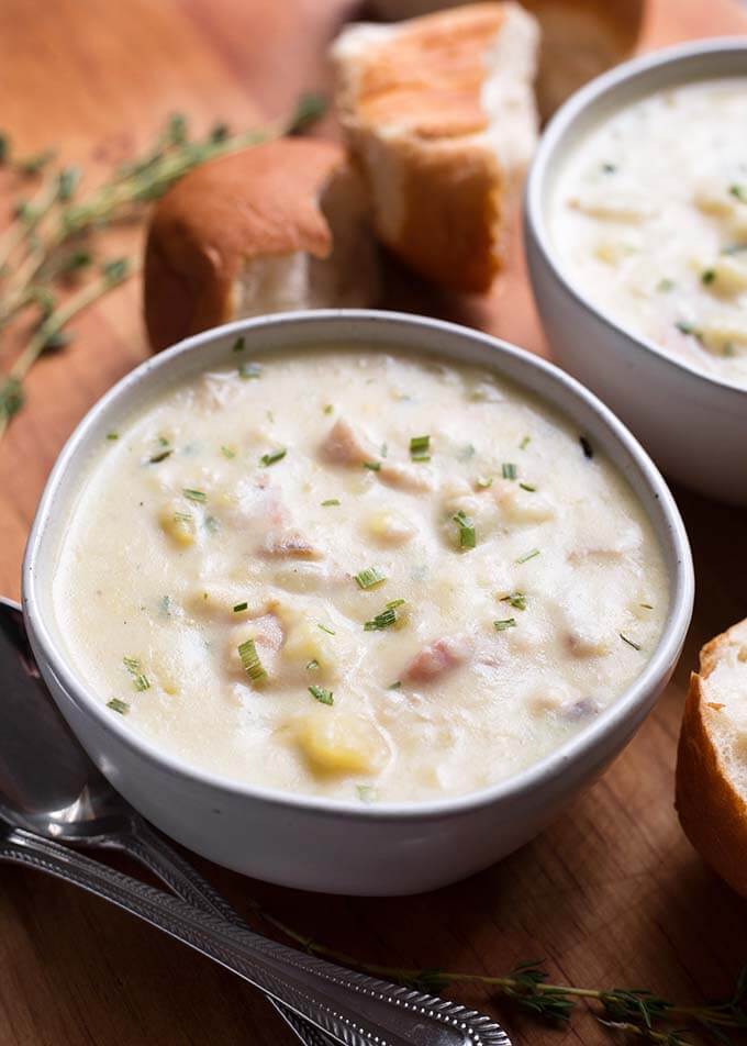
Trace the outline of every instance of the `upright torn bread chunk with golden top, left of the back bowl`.
<path fill-rule="evenodd" d="M 538 31 L 515 3 L 472 3 L 335 41 L 336 102 L 379 238 L 427 279 L 486 291 L 534 151 Z"/>

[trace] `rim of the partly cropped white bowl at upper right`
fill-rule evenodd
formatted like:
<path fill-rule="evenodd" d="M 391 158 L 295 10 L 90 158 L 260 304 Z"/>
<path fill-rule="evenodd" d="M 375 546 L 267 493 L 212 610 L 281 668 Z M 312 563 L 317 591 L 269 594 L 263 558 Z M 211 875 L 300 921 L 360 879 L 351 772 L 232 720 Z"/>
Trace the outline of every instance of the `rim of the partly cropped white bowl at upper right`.
<path fill-rule="evenodd" d="M 717 59 L 720 56 L 734 54 L 747 55 L 747 36 L 715 36 L 684 44 L 674 44 L 671 47 L 664 47 L 649 54 L 631 58 L 609 69 L 606 73 L 601 74 L 601 76 L 595 77 L 593 80 L 590 80 L 589 84 L 586 84 L 564 102 L 544 130 L 527 174 L 523 211 L 524 226 L 533 240 L 534 245 L 542 252 L 542 256 L 555 279 L 581 309 L 591 313 L 595 320 L 609 330 L 623 335 L 634 345 L 645 349 L 647 353 L 654 354 L 658 360 L 680 371 L 684 371 L 692 378 L 705 381 L 714 388 L 723 389 L 724 393 L 734 400 L 737 409 L 744 409 L 744 399 L 747 397 L 747 386 L 739 385 L 728 378 L 707 374 L 685 359 L 671 356 L 655 341 L 644 337 L 642 334 L 637 334 L 635 331 L 625 326 L 622 322 L 615 320 L 614 316 L 603 311 L 591 298 L 588 298 L 580 287 L 575 283 L 572 278 L 566 275 L 562 264 L 557 258 L 557 253 L 551 243 L 549 230 L 547 229 L 547 223 L 543 215 L 543 204 L 547 196 L 546 183 L 548 170 L 554 164 L 558 151 L 562 148 L 566 134 L 584 112 L 603 98 L 613 96 L 623 84 L 634 82 L 635 80 L 645 81 L 646 77 L 664 66 L 672 66 L 676 68 L 680 64 L 685 65 L 693 58 L 707 58 L 711 56 Z M 747 76 L 747 69 L 745 69 L 745 76 Z M 714 79 L 715 78 L 716 74 L 714 73 Z M 707 79 L 707 75 L 703 77 L 703 79 Z M 687 80 L 682 82 L 684 84 Z M 621 105 L 620 108 L 622 109 L 623 107 Z M 602 122 L 603 121 L 600 121 L 600 123 Z"/>

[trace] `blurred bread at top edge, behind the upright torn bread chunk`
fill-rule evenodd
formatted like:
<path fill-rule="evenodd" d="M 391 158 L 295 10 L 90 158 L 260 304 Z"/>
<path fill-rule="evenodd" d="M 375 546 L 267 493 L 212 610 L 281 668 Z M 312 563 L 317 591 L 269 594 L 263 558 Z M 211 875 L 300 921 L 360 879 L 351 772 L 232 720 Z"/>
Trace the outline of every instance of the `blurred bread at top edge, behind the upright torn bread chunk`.
<path fill-rule="evenodd" d="M 406 19 L 460 0 L 370 0 L 384 19 Z M 569 94 L 627 58 L 640 34 L 645 0 L 522 0 L 542 29 L 537 99 L 543 119 Z"/>

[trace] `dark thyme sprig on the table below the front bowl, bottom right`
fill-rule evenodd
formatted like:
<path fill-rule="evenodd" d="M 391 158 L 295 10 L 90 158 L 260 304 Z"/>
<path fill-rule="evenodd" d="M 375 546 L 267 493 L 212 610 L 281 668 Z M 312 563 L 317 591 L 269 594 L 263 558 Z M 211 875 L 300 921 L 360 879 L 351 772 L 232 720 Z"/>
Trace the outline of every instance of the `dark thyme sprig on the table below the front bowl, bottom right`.
<path fill-rule="evenodd" d="M 304 936 L 252 902 L 255 914 L 311 955 L 350 966 L 374 977 L 425 992 L 442 992 L 457 984 L 487 988 L 500 1005 L 509 1003 L 543 1022 L 566 1025 L 579 1003 L 588 1003 L 602 1027 L 620 1035 L 658 1043 L 660 1046 L 694 1046 L 694 1042 L 731 1046 L 728 1032 L 747 1030 L 747 965 L 742 969 L 732 997 L 724 1002 L 687 1006 L 670 1002 L 647 989 L 597 989 L 554 984 L 542 960 L 520 962 L 503 976 L 441 969 L 408 969 L 361 962 L 312 937 Z M 694 1038 L 693 1038 L 694 1036 Z"/>

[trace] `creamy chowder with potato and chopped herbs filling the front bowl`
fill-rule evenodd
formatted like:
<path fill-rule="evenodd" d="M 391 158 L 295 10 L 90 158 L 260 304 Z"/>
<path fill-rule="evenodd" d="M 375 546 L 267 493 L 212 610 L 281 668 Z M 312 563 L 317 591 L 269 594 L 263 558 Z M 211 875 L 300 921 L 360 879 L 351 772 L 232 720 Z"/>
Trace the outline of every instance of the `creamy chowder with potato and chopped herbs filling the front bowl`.
<path fill-rule="evenodd" d="M 487 370 L 242 346 L 102 439 L 77 498 L 55 613 L 108 714 L 235 780 L 413 801 L 633 682 L 667 576 L 584 433 Z"/>

